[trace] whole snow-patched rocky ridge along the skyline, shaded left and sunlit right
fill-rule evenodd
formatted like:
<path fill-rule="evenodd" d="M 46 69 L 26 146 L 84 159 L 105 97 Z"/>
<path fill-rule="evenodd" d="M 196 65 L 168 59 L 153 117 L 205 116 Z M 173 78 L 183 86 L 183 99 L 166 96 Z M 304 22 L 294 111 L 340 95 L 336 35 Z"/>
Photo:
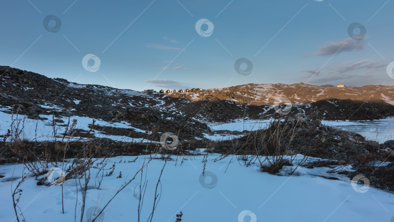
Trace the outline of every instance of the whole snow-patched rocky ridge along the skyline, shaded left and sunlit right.
<path fill-rule="evenodd" d="M 304 112 L 321 120 L 394 116 L 394 86 L 248 84 L 198 92 L 145 93 L 82 85 L 7 66 L 0 66 L 0 74 L 0 106 L 33 119 L 41 118 L 40 114 L 87 116 L 124 120 L 143 130 L 186 128 L 188 134 L 198 131 L 201 135 L 209 131 L 203 122 L 277 118 L 281 116 L 277 110 L 287 108 L 286 114 Z M 285 103 L 291 107 L 286 108 Z"/>

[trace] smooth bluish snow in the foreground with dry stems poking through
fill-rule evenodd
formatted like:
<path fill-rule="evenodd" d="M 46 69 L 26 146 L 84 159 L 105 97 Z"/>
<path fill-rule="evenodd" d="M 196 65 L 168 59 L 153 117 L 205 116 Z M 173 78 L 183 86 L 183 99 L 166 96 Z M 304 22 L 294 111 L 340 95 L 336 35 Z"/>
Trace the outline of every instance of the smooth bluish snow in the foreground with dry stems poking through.
<path fill-rule="evenodd" d="M 145 157 L 139 156 L 134 163 L 128 163 L 135 159 L 132 156 L 109 159 L 108 166 L 116 163 L 114 173 L 104 176 L 100 189 L 94 185 L 97 179 L 90 180 L 87 211 L 91 212 L 91 207 L 96 204 L 103 208 L 119 187 L 143 165 Z M 202 176 L 203 156 L 187 157 L 183 163 L 182 157 L 177 160 L 174 156 L 174 161 L 167 162 L 158 188 L 161 199 L 153 221 L 175 222 L 175 215 L 180 211 L 183 212 L 182 221 L 186 222 L 390 222 L 394 216 L 393 193 L 357 186 L 338 174 L 330 176 L 340 180 L 314 176 L 325 174 L 328 169 L 325 167 L 298 167 L 299 176 L 277 176 L 261 172 L 258 161 L 246 167 L 235 156 L 214 162 L 216 157 L 216 154 L 208 156 L 205 176 Z M 154 159 L 143 171 L 142 181 L 147 181 L 147 188 L 141 221 L 146 221 L 152 211 L 155 187 L 163 164 L 164 161 Z M 15 180 L 11 183 L 14 170 Z M 21 164 L 0 166 L 0 175 L 4 176 L 0 182 L 2 222 L 16 221 L 11 185 L 15 187 L 21 170 Z M 282 173 L 286 170 L 292 169 L 286 168 Z M 122 178 L 117 179 L 120 171 Z M 92 171 L 91 175 L 95 176 L 95 173 Z M 98 221 L 137 221 L 140 175 L 109 203 L 104 217 Z M 68 180 L 63 185 L 64 214 L 61 186 L 36 184 L 37 181 L 31 177 L 20 187 L 23 191 L 18 206 L 27 222 L 71 222 L 74 221 L 75 209 L 76 220 L 80 221 L 82 197 L 76 180 Z"/>

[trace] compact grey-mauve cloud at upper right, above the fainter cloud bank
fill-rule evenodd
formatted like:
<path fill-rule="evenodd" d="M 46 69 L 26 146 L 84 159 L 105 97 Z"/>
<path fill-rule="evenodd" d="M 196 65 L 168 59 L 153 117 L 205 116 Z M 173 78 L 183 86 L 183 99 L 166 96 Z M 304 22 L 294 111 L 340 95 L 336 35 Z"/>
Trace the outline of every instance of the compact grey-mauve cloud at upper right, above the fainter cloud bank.
<path fill-rule="evenodd" d="M 356 51 L 364 50 L 366 48 L 365 45 L 366 42 L 363 40 L 358 41 L 352 38 L 346 38 L 340 42 L 326 42 L 322 44 L 318 52 L 314 52 L 306 56 L 310 56 L 310 55 L 332 56 L 343 52 L 356 52 Z"/>

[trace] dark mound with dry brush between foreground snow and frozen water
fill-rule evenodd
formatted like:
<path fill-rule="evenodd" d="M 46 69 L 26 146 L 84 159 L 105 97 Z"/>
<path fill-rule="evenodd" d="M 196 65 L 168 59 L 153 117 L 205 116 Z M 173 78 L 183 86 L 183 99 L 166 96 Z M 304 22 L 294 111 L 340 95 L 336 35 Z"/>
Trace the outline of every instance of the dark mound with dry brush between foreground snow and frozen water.
<path fill-rule="evenodd" d="M 256 154 L 256 148 L 259 155 L 273 155 L 279 151 L 362 164 L 383 161 L 393 154 L 390 160 L 394 161 L 394 151 L 382 148 L 379 143 L 365 140 L 357 133 L 322 125 L 320 120 L 311 120 L 304 114 L 274 121 L 268 129 L 247 132 L 232 141 L 219 142 L 214 152 L 237 150 L 239 154 Z"/>

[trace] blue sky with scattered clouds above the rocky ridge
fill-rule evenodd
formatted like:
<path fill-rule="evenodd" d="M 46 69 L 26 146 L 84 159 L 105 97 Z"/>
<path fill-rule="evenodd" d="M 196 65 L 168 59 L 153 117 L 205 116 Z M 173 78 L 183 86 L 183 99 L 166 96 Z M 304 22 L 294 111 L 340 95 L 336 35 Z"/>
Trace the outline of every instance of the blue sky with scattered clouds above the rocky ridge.
<path fill-rule="evenodd" d="M 386 72 L 394 61 L 393 8 L 387 0 L 3 1 L 0 65 L 139 91 L 394 85 Z M 51 32 L 54 19 L 44 28 L 49 15 L 59 30 Z M 209 36 L 197 33 L 199 19 L 214 25 Z M 362 40 L 348 34 L 354 22 L 365 27 Z M 99 58 L 95 72 L 82 64 L 88 54 Z M 238 58 L 251 61 L 251 74 L 236 72 Z"/>

